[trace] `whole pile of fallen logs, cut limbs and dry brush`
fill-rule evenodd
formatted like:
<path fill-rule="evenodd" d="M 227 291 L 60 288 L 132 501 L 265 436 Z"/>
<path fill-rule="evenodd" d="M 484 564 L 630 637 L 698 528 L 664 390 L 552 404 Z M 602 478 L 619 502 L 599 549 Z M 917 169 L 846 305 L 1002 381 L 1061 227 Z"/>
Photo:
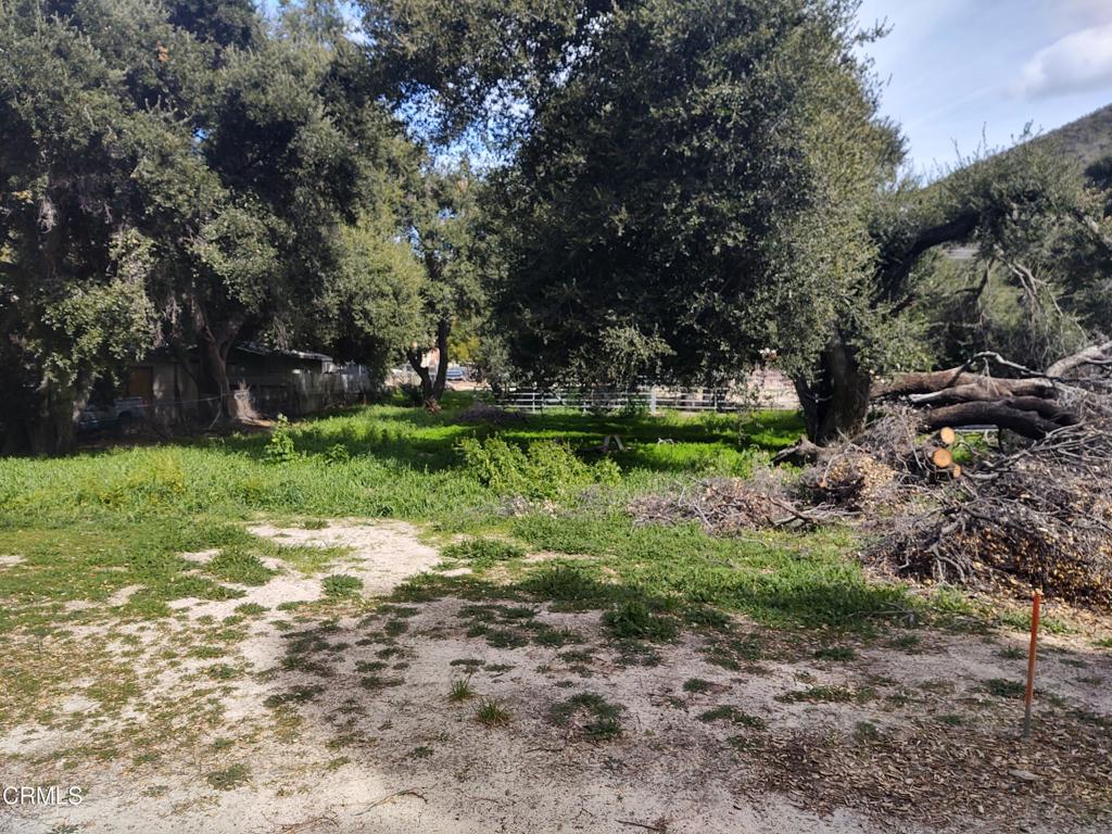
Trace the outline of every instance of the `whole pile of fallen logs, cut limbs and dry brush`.
<path fill-rule="evenodd" d="M 709 479 L 631 510 L 715 535 L 850 522 L 890 575 L 1112 609 L 1112 342 L 1043 371 L 981 354 L 872 398 L 852 440 L 776 456 L 795 480 Z"/>

